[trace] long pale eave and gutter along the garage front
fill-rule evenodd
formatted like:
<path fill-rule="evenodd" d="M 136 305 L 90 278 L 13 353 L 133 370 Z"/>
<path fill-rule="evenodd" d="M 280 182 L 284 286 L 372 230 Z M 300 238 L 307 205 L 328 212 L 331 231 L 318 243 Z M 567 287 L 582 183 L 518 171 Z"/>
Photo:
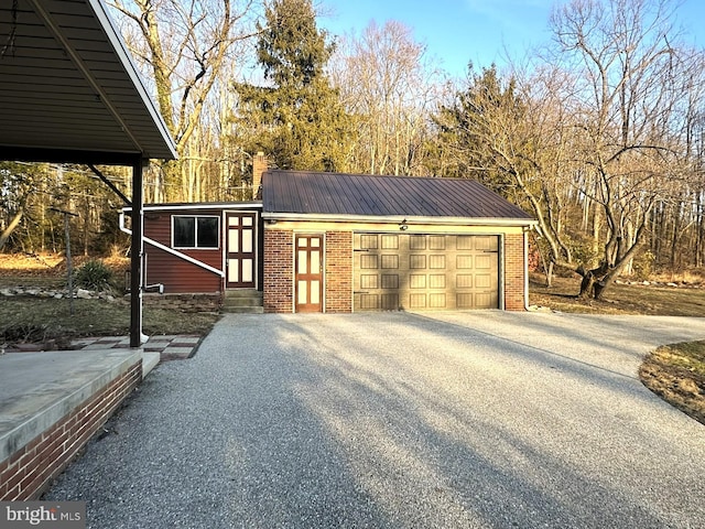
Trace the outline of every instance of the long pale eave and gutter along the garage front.
<path fill-rule="evenodd" d="M 307 222 L 307 223 L 350 223 L 350 224 L 395 224 L 430 226 L 496 226 L 496 227 L 531 227 L 538 224 L 532 218 L 490 218 L 490 217 L 414 217 L 370 215 L 324 215 L 312 213 L 272 213 L 262 214 L 264 220 Z"/>

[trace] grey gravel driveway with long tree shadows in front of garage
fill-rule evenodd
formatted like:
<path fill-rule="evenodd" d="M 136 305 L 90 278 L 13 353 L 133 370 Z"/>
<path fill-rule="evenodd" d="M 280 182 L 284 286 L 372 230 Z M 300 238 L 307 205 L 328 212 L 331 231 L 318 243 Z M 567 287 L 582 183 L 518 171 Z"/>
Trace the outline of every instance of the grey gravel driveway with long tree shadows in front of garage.
<path fill-rule="evenodd" d="M 703 528 L 705 427 L 637 377 L 705 320 L 227 315 L 45 499 L 109 528 Z"/>

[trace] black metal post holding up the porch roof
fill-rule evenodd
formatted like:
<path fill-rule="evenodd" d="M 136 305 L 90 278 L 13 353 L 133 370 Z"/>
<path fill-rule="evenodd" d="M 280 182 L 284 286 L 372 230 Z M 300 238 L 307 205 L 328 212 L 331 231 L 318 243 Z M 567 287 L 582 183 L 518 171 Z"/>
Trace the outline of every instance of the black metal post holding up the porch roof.
<path fill-rule="evenodd" d="M 143 160 L 132 165 L 132 240 L 130 246 L 130 347 L 142 345 L 142 168 Z"/>

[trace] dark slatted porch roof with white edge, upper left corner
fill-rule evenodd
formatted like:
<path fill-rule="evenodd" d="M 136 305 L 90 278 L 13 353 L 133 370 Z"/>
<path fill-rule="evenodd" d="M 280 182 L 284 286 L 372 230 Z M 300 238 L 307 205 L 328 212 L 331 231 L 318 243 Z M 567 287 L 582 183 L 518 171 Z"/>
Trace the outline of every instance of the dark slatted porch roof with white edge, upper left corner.
<path fill-rule="evenodd" d="M 176 150 L 104 0 L 1 2 L 0 159 L 137 156 Z"/>

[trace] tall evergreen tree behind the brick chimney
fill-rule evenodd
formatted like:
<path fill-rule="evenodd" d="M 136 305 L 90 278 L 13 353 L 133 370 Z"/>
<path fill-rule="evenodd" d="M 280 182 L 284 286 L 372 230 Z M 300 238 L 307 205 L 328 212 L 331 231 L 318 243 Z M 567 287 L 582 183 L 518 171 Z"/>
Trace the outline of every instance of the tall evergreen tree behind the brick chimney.
<path fill-rule="evenodd" d="M 235 85 L 237 140 L 280 169 L 345 171 L 351 120 L 325 74 L 334 44 L 311 0 L 274 0 L 265 18 L 257 56 L 269 85 Z"/>

